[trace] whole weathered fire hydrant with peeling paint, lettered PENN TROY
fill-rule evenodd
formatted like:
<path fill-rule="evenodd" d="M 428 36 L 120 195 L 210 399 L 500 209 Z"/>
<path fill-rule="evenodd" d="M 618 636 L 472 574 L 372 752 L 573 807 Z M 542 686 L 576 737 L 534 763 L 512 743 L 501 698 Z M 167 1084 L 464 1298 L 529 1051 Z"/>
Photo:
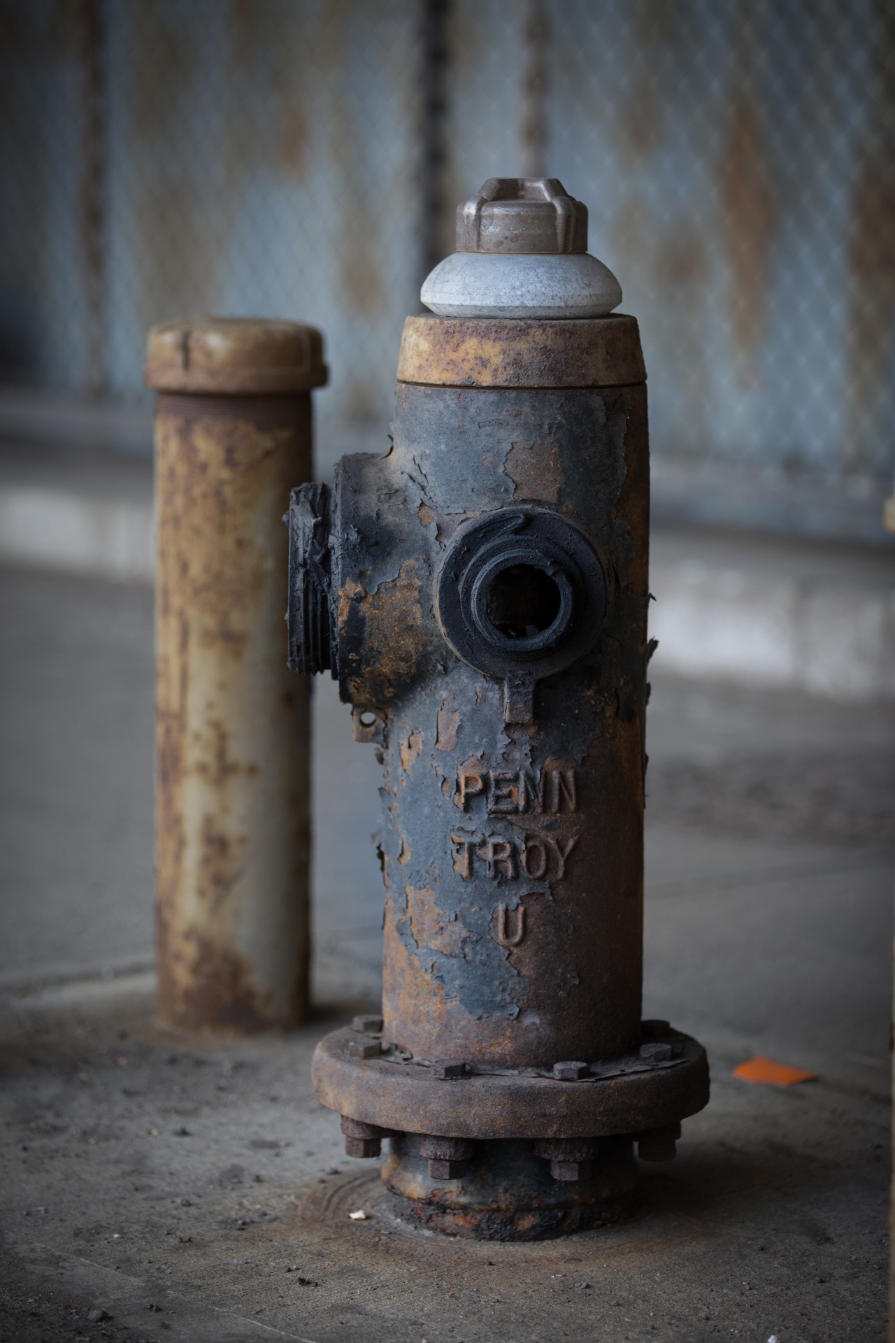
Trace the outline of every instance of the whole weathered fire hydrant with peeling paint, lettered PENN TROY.
<path fill-rule="evenodd" d="M 382 1015 L 319 1100 L 399 1215 L 535 1240 L 628 1211 L 708 1099 L 640 1019 L 645 372 L 586 208 L 491 179 L 408 317 L 393 441 L 290 504 L 290 666 L 384 766 Z"/>

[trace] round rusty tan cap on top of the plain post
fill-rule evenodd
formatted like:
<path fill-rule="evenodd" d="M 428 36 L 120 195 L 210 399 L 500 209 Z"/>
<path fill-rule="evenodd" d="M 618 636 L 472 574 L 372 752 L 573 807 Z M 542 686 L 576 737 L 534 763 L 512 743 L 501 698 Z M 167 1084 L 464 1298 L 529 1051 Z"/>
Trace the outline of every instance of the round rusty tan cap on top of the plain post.
<path fill-rule="evenodd" d="M 259 317 L 160 322 L 146 341 L 146 387 L 211 396 L 276 396 L 329 376 L 314 326 Z"/>

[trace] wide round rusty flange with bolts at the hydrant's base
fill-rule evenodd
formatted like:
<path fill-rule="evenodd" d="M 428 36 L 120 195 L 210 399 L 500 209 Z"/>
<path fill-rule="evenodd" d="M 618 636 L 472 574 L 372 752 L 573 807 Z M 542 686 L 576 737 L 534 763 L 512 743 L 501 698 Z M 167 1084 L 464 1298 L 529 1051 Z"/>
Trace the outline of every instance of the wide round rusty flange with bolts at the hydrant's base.
<path fill-rule="evenodd" d="M 557 1080 L 546 1069 L 439 1077 L 431 1064 L 394 1054 L 357 1057 L 354 1029 L 334 1030 L 314 1052 L 314 1089 L 330 1109 L 400 1133 L 467 1139 L 569 1139 L 640 1133 L 695 1115 L 708 1103 L 708 1064 L 695 1039 L 648 1033 L 678 1050 L 671 1058 L 598 1061 L 585 1077 Z M 354 1048 L 354 1054 L 352 1053 Z M 369 1046 L 368 1046 L 369 1049 Z"/>

